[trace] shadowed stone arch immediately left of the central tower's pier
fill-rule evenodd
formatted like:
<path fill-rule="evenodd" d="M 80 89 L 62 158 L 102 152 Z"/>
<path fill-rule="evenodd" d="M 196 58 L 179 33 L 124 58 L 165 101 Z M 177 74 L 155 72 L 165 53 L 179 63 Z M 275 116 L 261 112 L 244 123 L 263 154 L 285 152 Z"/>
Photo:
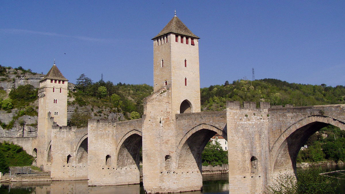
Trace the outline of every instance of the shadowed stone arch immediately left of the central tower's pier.
<path fill-rule="evenodd" d="M 131 130 L 116 147 L 116 167 L 137 167 L 139 169 L 140 148 L 142 146 L 142 133 L 138 130 Z"/>

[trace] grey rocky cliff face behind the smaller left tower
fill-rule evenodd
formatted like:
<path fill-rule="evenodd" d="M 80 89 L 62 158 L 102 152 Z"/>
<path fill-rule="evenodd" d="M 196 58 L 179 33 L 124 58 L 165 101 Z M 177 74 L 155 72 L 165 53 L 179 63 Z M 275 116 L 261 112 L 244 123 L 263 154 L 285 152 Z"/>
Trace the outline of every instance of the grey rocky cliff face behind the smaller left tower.
<path fill-rule="evenodd" d="M 33 85 L 35 88 L 39 87 L 39 81 L 43 79 L 44 74 L 35 74 L 31 72 L 23 72 L 22 70 L 16 70 L 7 68 L 6 73 L 0 76 L 0 87 L 3 90 L 10 93 L 13 88 L 17 88 L 20 85 Z M 73 91 L 75 85 L 68 83 L 68 89 Z M 73 101 L 73 98 L 68 98 L 68 101 Z M 33 107 L 37 107 L 38 100 L 33 104 Z M 122 113 L 112 113 L 109 108 L 105 107 L 91 107 L 78 105 L 70 105 L 67 108 L 67 119 L 70 119 L 74 111 L 78 109 L 78 112 L 89 113 L 92 118 L 95 119 L 112 119 L 115 121 L 125 120 L 125 116 Z M 37 120 L 38 116 L 23 115 L 17 119 L 13 119 L 18 115 L 18 109 L 12 109 L 10 111 L 0 110 L 0 121 L 3 124 L 9 125 L 13 123 L 13 127 L 10 129 L 3 129 L 0 126 L 0 137 L 34 137 L 37 136 Z"/>

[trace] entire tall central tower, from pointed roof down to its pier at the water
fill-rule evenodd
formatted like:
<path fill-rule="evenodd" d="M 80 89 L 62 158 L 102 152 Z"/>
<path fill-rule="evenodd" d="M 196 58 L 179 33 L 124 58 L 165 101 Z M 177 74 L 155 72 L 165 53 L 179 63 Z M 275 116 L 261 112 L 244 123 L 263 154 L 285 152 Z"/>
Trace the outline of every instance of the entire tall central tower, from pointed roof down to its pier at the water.
<path fill-rule="evenodd" d="M 176 114 L 200 112 L 198 39 L 176 14 L 152 39 L 154 92 L 145 99 L 142 117 L 143 182 L 148 193 L 202 187 L 201 173 L 186 173 L 176 152 L 177 138 L 184 133 L 176 128 Z"/>

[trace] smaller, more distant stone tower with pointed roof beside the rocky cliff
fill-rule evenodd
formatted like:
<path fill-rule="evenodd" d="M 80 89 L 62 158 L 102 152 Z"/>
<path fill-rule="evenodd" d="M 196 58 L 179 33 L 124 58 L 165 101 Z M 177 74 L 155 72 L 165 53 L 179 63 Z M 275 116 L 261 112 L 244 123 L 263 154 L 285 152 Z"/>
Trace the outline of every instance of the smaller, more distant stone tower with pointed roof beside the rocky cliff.
<path fill-rule="evenodd" d="M 61 74 L 57 66 L 51 67 L 47 75 L 40 81 L 38 90 L 38 127 L 37 127 L 37 166 L 43 165 L 45 170 L 51 164 L 51 126 L 67 125 L 68 80 Z M 53 123 L 54 122 L 54 123 Z"/>

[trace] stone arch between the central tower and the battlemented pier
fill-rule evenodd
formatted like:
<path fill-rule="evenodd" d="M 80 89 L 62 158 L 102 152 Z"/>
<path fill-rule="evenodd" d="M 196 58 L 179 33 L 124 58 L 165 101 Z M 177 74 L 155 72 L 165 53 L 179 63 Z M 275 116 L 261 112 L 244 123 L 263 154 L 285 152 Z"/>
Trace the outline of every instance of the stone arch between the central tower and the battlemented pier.
<path fill-rule="evenodd" d="M 209 124 L 200 124 L 190 129 L 177 147 L 177 168 L 180 171 L 195 170 L 201 174 L 201 153 L 207 142 L 217 133 L 227 139 L 223 130 Z"/>

